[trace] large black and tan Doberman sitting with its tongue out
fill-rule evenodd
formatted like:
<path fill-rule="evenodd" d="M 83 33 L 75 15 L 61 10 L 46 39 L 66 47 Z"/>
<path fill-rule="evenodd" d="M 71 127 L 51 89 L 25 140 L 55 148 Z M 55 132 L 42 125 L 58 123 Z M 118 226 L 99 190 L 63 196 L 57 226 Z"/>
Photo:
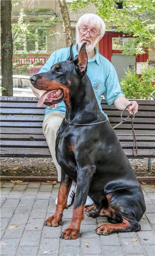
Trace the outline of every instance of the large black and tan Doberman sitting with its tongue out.
<path fill-rule="evenodd" d="M 45 224 L 60 224 L 67 196 L 74 180 L 77 190 L 71 224 L 62 232 L 64 239 L 76 239 L 87 195 L 94 206 L 86 209 L 89 217 L 106 216 L 109 224 L 97 227 L 97 234 L 139 231 L 145 212 L 142 189 L 111 124 L 99 109 L 86 74 L 86 43 L 74 60 L 72 46 L 66 61 L 50 71 L 30 78 L 33 86 L 46 92 L 38 104 L 52 105 L 64 100 L 66 116 L 57 132 L 56 157 L 61 166 L 61 183 L 56 212 Z"/>

